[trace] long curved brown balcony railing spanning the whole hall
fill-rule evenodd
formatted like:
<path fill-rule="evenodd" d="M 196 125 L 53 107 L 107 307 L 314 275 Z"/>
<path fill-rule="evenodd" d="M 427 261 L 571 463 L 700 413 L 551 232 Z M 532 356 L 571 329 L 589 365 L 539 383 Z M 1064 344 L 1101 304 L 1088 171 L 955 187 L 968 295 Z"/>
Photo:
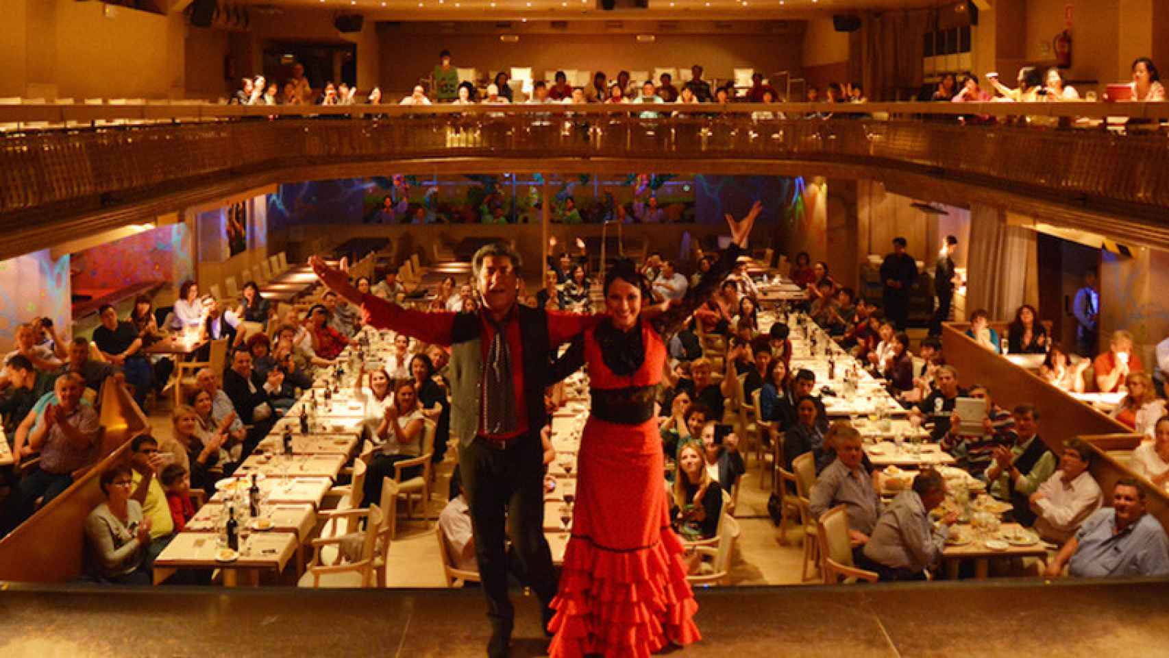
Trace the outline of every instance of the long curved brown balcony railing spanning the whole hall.
<path fill-rule="evenodd" d="M 899 168 L 1155 216 L 1167 118 L 1169 103 L 0 106 L 15 129 L 0 138 L 0 227 L 248 174 L 447 158 Z"/>

